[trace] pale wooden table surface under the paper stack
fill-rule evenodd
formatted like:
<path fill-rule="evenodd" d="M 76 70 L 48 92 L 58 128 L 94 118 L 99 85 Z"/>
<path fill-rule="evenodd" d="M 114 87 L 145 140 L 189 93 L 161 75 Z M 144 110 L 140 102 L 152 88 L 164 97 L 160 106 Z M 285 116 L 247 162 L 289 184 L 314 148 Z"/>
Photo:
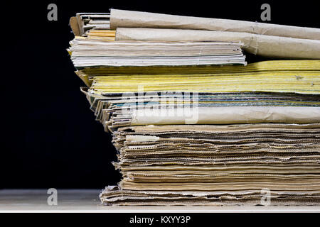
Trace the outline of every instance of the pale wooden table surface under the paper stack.
<path fill-rule="evenodd" d="M 46 189 L 1 189 L 0 212 L 217 213 L 318 212 L 320 206 L 102 206 L 100 189 L 58 189 L 57 205 L 48 205 Z"/>

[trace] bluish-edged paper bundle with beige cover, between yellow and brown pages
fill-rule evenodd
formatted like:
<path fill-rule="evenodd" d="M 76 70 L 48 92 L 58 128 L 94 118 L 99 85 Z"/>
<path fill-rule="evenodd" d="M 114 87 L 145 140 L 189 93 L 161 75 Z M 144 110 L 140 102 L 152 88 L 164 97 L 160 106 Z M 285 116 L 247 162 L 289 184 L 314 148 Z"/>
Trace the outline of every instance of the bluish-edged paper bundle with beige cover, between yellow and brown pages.
<path fill-rule="evenodd" d="M 106 131 L 139 125 L 320 122 L 319 95 L 82 92 Z"/>

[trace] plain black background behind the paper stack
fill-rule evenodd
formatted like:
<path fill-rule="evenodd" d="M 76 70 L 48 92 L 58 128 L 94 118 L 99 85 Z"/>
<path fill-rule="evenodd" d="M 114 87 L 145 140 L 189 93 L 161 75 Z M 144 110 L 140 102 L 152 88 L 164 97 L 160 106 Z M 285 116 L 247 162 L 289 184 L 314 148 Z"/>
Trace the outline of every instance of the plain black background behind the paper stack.
<path fill-rule="evenodd" d="M 47 6 L 58 6 L 58 21 Z M 320 27 L 316 1 L 11 1 L 1 3 L 0 188 L 103 188 L 120 175 L 115 150 L 89 109 L 66 48 L 77 12 L 110 8 Z"/>

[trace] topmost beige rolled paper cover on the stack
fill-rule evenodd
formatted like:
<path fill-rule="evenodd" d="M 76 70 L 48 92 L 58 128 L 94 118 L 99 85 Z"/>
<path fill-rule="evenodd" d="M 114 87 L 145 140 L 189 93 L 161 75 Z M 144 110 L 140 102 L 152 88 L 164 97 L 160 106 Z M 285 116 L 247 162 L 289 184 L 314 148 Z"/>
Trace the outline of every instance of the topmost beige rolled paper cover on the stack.
<path fill-rule="evenodd" d="M 260 35 L 320 40 L 319 28 L 283 26 L 272 23 L 236 21 L 193 16 L 175 16 L 111 9 L 110 28 L 181 28 L 209 31 L 234 31 Z"/>

